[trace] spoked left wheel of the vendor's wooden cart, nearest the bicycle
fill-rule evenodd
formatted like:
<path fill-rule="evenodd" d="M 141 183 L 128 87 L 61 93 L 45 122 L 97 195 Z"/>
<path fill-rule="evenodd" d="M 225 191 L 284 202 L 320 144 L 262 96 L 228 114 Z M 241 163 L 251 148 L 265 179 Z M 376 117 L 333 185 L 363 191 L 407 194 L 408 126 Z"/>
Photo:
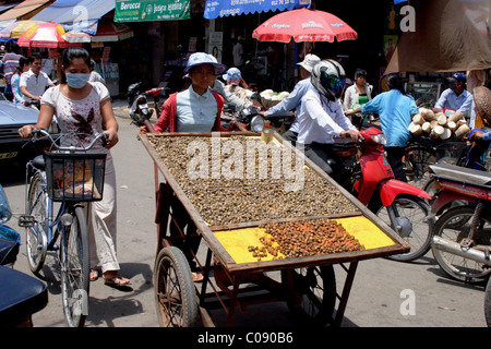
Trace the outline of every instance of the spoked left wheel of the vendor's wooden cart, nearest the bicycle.
<path fill-rule="evenodd" d="M 197 303 L 191 268 L 181 250 L 165 248 L 154 268 L 155 303 L 163 327 L 193 327 L 197 323 Z"/>

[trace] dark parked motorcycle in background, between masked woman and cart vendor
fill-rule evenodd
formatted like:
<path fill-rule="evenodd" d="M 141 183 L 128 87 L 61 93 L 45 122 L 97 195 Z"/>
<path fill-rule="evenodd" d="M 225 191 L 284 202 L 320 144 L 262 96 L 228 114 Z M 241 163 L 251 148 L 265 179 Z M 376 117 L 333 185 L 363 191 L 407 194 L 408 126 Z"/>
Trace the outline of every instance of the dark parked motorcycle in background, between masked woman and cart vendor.
<path fill-rule="evenodd" d="M 128 87 L 127 97 L 128 97 L 128 106 L 130 107 L 130 117 L 136 125 L 143 125 L 146 120 L 152 118 L 154 110 L 148 107 L 148 98 L 151 96 L 153 98 L 153 103 L 155 106 L 155 111 L 158 116 L 161 111 L 161 101 L 160 98 L 165 97 L 164 92 L 167 89 L 166 87 L 155 87 L 148 89 L 144 93 L 141 93 L 142 83 L 131 84 Z"/>

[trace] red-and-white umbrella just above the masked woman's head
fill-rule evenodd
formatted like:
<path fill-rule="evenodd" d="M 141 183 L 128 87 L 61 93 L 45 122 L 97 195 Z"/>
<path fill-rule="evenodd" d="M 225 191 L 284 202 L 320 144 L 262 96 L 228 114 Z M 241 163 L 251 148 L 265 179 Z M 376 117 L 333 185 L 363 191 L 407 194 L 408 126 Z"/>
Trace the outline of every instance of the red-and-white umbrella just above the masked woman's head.
<path fill-rule="evenodd" d="M 63 39 L 64 28 L 58 23 L 37 24 L 28 28 L 17 40 L 21 47 L 67 48 L 81 46 Z"/>

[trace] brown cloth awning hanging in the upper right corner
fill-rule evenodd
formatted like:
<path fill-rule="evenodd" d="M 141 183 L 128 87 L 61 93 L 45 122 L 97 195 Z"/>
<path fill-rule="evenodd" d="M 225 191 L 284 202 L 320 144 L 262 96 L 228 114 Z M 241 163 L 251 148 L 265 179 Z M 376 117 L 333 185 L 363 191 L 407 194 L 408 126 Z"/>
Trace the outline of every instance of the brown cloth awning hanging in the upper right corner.
<path fill-rule="evenodd" d="M 420 0 L 411 5 L 415 32 L 400 36 L 386 74 L 491 68 L 489 0 Z"/>

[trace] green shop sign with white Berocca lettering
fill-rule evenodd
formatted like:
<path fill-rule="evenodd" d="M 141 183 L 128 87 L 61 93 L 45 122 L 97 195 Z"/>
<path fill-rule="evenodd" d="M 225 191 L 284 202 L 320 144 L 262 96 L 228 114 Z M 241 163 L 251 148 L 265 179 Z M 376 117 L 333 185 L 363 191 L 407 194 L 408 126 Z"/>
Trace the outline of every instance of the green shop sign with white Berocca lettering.
<path fill-rule="evenodd" d="M 189 20 L 190 0 L 116 1 L 115 22 Z"/>

